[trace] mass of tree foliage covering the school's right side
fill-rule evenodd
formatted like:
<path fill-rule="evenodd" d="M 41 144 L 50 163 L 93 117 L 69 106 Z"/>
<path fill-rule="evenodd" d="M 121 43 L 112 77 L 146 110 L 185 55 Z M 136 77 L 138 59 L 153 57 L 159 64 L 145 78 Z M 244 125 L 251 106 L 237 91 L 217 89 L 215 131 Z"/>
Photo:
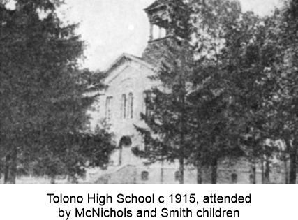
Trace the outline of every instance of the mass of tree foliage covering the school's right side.
<path fill-rule="evenodd" d="M 149 140 L 149 152 L 135 152 L 149 161 L 182 155 L 198 173 L 211 165 L 214 183 L 219 159 L 244 156 L 254 174 L 256 164 L 265 161 L 268 183 L 269 164 L 282 150 L 283 158 L 290 155 L 294 183 L 297 1 L 268 17 L 242 13 L 238 1 L 186 3 L 190 31 L 184 30 L 182 39 L 188 44 L 168 48 L 154 78 L 162 85 L 147 101 L 151 114 L 143 115 L 149 129 L 137 128 Z M 177 38 L 179 27 L 172 27 Z M 288 148 L 276 147 L 277 140 Z"/>

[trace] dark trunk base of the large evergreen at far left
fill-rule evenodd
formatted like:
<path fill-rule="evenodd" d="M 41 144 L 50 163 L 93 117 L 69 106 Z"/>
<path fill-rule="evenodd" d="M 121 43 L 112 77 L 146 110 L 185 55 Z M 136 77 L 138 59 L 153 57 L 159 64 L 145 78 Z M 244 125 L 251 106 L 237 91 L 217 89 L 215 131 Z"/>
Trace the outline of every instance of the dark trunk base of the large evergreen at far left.
<path fill-rule="evenodd" d="M 15 184 L 17 178 L 17 147 L 12 147 L 10 154 L 6 156 L 4 170 L 4 184 Z"/>

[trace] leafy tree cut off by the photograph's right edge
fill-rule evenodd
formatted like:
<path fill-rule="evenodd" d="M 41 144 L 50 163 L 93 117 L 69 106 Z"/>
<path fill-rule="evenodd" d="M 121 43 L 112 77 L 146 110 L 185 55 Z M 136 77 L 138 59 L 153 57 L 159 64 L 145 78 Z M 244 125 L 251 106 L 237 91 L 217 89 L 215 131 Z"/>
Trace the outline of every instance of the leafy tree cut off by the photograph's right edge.
<path fill-rule="evenodd" d="M 276 11 L 277 25 L 272 29 L 271 41 L 276 43 L 275 62 L 272 66 L 278 89 L 276 90 L 276 104 L 278 105 L 277 119 L 281 132 L 279 135 L 285 140 L 290 155 L 290 184 L 296 184 L 297 149 L 298 149 L 298 77 L 297 77 L 297 30 L 298 30 L 298 1 L 285 1 L 281 11 Z M 278 36 L 276 37 L 276 32 Z M 276 38 L 274 38 L 276 37 Z M 276 40 L 277 39 L 277 40 Z"/>

